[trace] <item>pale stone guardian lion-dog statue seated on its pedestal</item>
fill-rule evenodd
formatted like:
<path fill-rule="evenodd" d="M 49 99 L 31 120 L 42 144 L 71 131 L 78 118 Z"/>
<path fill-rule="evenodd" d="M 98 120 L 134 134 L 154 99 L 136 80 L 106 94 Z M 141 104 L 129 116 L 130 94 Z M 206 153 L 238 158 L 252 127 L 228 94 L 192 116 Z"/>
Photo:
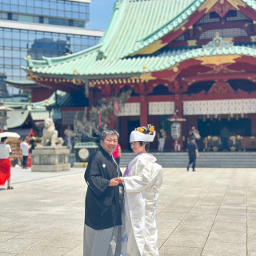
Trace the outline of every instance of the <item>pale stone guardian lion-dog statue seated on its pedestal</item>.
<path fill-rule="evenodd" d="M 63 139 L 58 138 L 58 131 L 55 130 L 52 118 L 46 118 L 45 126 L 42 130 L 42 146 L 62 146 Z"/>

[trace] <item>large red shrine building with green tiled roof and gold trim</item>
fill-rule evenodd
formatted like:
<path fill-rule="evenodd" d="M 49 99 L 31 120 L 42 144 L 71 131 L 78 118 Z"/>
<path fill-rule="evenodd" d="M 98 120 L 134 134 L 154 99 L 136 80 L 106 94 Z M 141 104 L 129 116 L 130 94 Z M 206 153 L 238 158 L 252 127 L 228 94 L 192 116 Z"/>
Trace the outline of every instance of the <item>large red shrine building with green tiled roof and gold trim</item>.
<path fill-rule="evenodd" d="M 201 134 L 202 150 L 226 126 L 231 143 L 240 140 L 241 150 L 256 150 L 255 0 L 118 0 L 97 46 L 28 58 L 23 69 L 44 89 L 85 94 L 88 106 L 131 89 L 109 122 L 120 131 L 124 150 L 130 131 L 148 123 L 165 128 L 165 150 L 174 150 L 167 120 L 174 114 L 186 119 L 181 149 L 191 126 Z M 63 122 L 76 110 L 61 111 Z"/>

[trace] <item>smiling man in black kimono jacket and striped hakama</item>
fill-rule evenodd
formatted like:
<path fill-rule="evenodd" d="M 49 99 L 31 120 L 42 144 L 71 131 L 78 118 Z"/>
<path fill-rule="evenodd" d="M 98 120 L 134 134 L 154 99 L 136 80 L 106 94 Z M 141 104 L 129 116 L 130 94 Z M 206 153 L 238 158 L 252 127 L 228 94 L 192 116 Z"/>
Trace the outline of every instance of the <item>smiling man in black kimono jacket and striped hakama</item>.
<path fill-rule="evenodd" d="M 122 173 L 112 156 L 118 137 L 116 130 L 103 130 L 101 147 L 86 168 L 84 256 L 120 255 L 122 217 L 118 177 Z"/>

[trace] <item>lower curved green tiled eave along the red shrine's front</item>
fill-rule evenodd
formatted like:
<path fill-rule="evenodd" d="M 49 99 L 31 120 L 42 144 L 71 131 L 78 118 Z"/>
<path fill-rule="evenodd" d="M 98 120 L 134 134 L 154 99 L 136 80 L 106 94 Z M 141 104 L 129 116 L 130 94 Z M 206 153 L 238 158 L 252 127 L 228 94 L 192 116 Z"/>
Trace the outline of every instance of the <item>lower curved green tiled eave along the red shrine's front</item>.
<path fill-rule="evenodd" d="M 180 54 L 178 54 L 178 52 Z M 256 49 L 248 46 L 218 46 L 214 48 L 195 48 L 192 50 L 166 50 L 162 52 L 159 56 L 139 56 L 134 58 L 123 58 L 112 60 L 108 62 L 102 60 L 100 62 L 95 62 L 90 66 L 84 68 L 84 60 L 80 59 L 75 63 L 75 68 L 77 70 L 76 76 L 93 76 L 93 75 L 111 75 L 111 74 L 145 74 L 148 72 L 157 72 L 166 69 L 172 69 L 179 63 L 194 59 L 194 58 L 204 58 L 213 57 L 221 55 L 244 55 L 250 57 L 256 57 Z M 74 66 L 70 66 L 70 63 L 62 63 L 62 65 L 55 66 L 44 66 L 38 68 L 32 68 L 31 70 L 34 74 L 42 75 L 70 75 L 74 74 Z M 145 69 L 146 66 L 146 69 Z"/>

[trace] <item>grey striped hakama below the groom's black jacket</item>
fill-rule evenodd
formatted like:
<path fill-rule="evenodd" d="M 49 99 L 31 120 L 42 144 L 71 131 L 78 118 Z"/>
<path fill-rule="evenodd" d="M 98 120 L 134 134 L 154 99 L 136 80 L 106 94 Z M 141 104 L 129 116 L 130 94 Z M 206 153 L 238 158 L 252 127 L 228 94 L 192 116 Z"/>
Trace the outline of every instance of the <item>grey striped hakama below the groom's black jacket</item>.
<path fill-rule="evenodd" d="M 121 226 L 105 230 L 84 228 L 83 256 L 120 256 Z"/>

